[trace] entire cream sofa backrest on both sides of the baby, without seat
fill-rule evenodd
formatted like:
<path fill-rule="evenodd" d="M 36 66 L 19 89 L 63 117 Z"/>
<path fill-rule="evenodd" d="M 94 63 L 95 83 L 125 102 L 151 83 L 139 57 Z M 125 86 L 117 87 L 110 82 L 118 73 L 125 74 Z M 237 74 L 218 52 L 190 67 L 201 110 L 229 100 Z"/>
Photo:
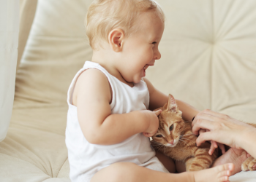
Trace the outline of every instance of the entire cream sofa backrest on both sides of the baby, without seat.
<path fill-rule="evenodd" d="M 33 0 L 34 1 L 34 0 Z M 256 111 L 256 1 L 158 0 L 166 15 L 162 58 L 146 77 L 165 94 L 246 122 Z M 84 17 L 91 0 L 38 0 L 18 68 L 16 107 L 66 104 L 92 50 Z"/>

